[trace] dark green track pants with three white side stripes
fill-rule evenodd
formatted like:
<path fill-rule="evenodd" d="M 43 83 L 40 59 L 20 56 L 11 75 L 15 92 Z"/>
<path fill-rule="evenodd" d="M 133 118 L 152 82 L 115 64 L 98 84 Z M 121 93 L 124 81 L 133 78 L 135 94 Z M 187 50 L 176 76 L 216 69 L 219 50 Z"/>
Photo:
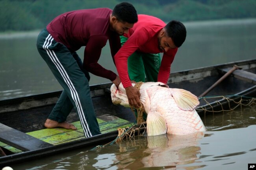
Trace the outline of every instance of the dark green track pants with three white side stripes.
<path fill-rule="evenodd" d="M 37 38 L 37 49 L 63 87 L 63 92 L 48 119 L 64 122 L 72 108 L 78 113 L 85 137 L 100 134 L 89 88 L 89 73 L 76 52 L 43 29 Z"/>

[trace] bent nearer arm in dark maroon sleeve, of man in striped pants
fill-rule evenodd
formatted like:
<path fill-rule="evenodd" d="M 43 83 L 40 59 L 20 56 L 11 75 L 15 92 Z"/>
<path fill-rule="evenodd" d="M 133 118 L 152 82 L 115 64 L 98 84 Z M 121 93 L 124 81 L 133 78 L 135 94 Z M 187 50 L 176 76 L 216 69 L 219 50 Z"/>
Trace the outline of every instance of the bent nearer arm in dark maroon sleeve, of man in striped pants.
<path fill-rule="evenodd" d="M 102 35 L 94 35 L 89 38 L 84 51 L 83 67 L 96 76 L 113 81 L 117 78 L 117 75 L 98 64 L 101 49 L 106 45 L 107 40 L 108 37 Z"/>

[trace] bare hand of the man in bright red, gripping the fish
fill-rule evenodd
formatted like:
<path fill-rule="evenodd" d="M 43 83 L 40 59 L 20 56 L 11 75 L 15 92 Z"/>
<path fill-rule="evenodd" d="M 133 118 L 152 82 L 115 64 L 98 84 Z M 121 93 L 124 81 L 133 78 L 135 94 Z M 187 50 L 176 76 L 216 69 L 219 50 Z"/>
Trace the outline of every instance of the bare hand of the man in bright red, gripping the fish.
<path fill-rule="evenodd" d="M 141 106 L 141 101 L 139 100 L 139 97 L 141 97 L 141 93 L 139 93 L 139 90 L 133 86 L 130 86 L 125 88 L 125 91 L 129 104 L 132 107 L 139 108 Z"/>

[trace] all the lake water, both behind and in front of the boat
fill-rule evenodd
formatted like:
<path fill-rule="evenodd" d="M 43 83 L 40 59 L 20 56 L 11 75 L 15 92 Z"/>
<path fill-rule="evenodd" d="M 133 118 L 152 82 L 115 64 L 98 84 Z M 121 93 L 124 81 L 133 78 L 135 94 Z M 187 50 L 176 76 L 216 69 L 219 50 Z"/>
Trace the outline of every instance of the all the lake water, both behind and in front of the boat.
<path fill-rule="evenodd" d="M 171 71 L 256 58 L 256 19 L 184 23 L 187 38 Z M 0 34 L 0 100 L 61 90 L 36 49 L 39 31 Z M 81 58 L 83 49 L 78 51 Z M 99 63 L 116 72 L 109 47 Z M 91 75 L 90 84 L 109 82 Z M 147 135 L 101 150 L 80 148 L 14 170 L 245 170 L 256 163 L 256 104 L 202 117 L 204 134 Z"/>

